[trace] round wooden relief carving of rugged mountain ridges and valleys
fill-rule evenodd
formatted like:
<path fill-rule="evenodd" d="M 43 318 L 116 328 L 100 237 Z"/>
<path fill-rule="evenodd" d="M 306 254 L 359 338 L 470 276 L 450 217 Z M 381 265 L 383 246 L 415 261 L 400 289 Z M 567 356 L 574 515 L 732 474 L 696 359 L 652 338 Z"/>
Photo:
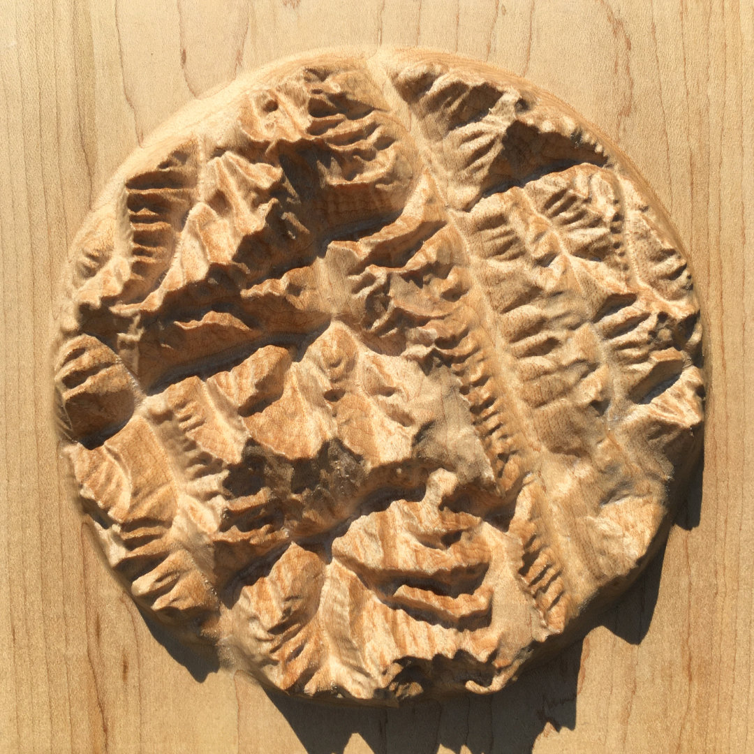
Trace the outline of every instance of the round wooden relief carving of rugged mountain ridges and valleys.
<path fill-rule="evenodd" d="M 455 57 L 195 103 L 70 277 L 63 452 L 106 558 L 290 693 L 501 688 L 636 577 L 700 446 L 664 213 L 562 103 Z"/>

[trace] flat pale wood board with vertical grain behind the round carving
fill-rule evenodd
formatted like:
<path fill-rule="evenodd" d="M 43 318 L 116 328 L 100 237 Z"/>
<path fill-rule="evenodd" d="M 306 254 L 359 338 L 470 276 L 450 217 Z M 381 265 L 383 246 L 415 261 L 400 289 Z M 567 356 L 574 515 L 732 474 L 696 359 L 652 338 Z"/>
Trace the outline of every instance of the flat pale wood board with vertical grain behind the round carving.
<path fill-rule="evenodd" d="M 685 241 L 713 378 L 703 475 L 601 625 L 494 697 L 391 711 L 268 695 L 146 624 L 70 502 L 49 365 L 69 241 L 149 130 L 277 57 L 380 44 L 489 60 L 618 143 Z M 750 2 L 2 0 L 0 750 L 754 751 L 752 77 Z"/>

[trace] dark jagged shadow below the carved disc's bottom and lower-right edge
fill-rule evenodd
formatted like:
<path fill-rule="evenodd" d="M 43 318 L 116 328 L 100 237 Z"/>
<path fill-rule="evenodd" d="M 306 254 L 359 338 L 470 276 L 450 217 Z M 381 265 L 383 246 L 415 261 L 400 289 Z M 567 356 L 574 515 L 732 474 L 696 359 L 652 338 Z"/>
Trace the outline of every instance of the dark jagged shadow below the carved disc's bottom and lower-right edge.
<path fill-rule="evenodd" d="M 683 529 L 698 526 L 702 480 L 703 455 L 676 513 L 675 523 Z M 666 547 L 620 602 L 597 615 L 590 628 L 605 627 L 632 645 L 642 642 L 657 604 Z M 455 754 L 461 749 L 470 754 L 529 754 L 548 728 L 575 728 L 583 642 L 575 642 L 523 673 L 513 685 L 486 697 L 462 694 L 379 709 L 311 702 L 268 688 L 265 694 L 308 754 L 342 754 L 354 734 L 374 754 L 436 754 L 440 746 Z"/>

